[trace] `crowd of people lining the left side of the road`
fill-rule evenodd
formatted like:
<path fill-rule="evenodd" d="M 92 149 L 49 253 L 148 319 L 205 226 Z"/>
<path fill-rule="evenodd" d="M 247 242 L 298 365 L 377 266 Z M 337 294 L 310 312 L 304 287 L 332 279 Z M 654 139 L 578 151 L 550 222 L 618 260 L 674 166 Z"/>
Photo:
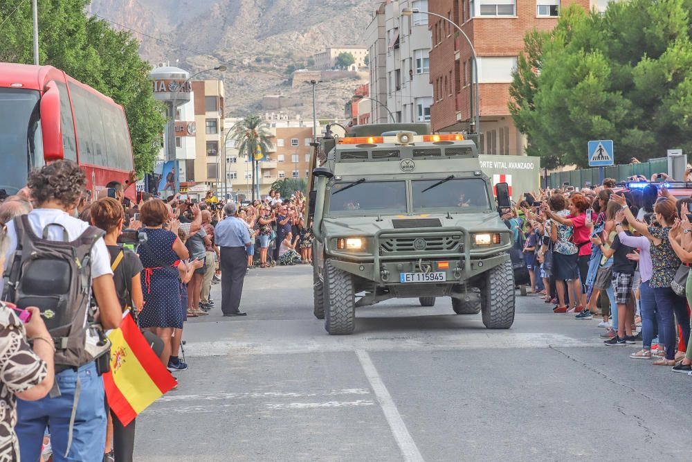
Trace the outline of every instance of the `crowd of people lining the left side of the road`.
<path fill-rule="evenodd" d="M 185 321 L 212 310 L 212 284 L 224 281 L 224 316 L 242 316 L 246 272 L 311 261 L 311 230 L 302 216 L 300 191 L 286 199 L 271 191 L 239 204 L 212 192 L 199 203 L 180 194 L 138 193 L 135 201 L 127 193 L 135 181 L 131 172 L 125 184 L 111 181 L 92 198 L 83 170 L 71 161 L 56 161 L 30 172 L 17 195 L 0 199 L 0 276 L 9 275 L 0 301 L 2 460 L 17 460 L 20 454 L 39 460 L 48 445 L 57 460 L 131 461 L 136 421 L 122 425 L 107 410 L 101 375 L 109 355 L 93 353 L 84 330 L 86 337 L 95 336 L 93 344 L 105 344 L 98 335 L 117 328 L 129 313 L 167 370 L 185 371 L 188 365 L 179 355 Z M 28 246 L 38 249 L 32 258 L 45 271 L 59 258 L 56 251 L 74 247 L 78 258 L 71 271 L 78 274 L 64 284 L 65 294 L 48 282 L 40 293 L 30 293 L 42 285 L 45 271 L 22 259 Z M 85 249 L 81 256 L 79 249 Z M 75 290 L 75 281 L 88 286 Z M 51 290 L 60 295 L 46 293 Z M 75 299 L 75 292 L 82 298 Z M 68 319 L 77 328 L 56 337 L 46 326 L 53 326 L 55 312 L 31 306 L 48 295 L 78 306 L 81 321 L 87 322 Z M 76 348 L 75 341 L 81 342 Z"/>

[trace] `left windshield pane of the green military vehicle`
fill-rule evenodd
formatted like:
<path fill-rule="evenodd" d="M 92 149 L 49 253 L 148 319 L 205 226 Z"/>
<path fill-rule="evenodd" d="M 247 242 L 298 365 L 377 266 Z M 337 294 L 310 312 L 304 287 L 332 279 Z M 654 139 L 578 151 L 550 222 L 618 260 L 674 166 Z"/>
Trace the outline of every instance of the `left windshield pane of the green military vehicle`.
<path fill-rule="evenodd" d="M 357 181 L 340 181 L 331 187 L 330 213 L 337 215 L 406 213 L 405 181 L 356 183 Z"/>

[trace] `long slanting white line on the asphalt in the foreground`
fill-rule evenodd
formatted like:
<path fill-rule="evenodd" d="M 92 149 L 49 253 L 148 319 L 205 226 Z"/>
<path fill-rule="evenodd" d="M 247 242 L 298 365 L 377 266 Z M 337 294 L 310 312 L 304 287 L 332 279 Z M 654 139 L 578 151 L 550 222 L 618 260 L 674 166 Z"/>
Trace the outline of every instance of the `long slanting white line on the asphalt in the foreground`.
<path fill-rule="evenodd" d="M 387 423 L 392 429 L 392 434 L 394 434 L 394 439 L 397 441 L 397 445 L 399 445 L 404 459 L 410 462 L 423 462 L 423 456 L 421 456 L 421 452 L 418 450 L 415 441 L 413 441 L 411 434 L 408 432 L 406 424 L 403 423 L 401 414 L 399 414 L 397 406 L 394 405 L 394 400 L 392 400 L 392 396 L 390 396 L 387 387 L 385 387 L 379 373 L 377 373 L 375 365 L 372 364 L 370 355 L 368 355 L 365 350 L 356 350 L 356 355 L 358 356 L 358 361 L 361 362 L 361 366 L 363 366 L 363 371 L 365 372 L 367 381 L 370 382 L 370 387 L 372 387 L 372 390 L 375 392 L 377 402 L 379 402 L 382 407 Z"/>

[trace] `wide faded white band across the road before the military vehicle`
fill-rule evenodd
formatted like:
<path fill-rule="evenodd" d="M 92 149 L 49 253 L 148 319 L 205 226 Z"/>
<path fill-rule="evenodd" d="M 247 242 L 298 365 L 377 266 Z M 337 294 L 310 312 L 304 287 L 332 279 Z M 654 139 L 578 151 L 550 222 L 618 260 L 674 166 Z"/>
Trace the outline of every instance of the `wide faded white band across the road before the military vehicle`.
<path fill-rule="evenodd" d="M 597 346 L 601 342 L 583 341 L 567 335 L 549 332 L 460 332 L 452 335 L 416 335 L 397 337 L 295 337 L 275 338 L 271 342 L 236 340 L 188 342 L 187 357 L 225 355 L 291 355 L 300 353 L 334 353 L 356 351 L 435 351 L 435 350 L 501 350 L 516 348 L 574 348 Z"/>

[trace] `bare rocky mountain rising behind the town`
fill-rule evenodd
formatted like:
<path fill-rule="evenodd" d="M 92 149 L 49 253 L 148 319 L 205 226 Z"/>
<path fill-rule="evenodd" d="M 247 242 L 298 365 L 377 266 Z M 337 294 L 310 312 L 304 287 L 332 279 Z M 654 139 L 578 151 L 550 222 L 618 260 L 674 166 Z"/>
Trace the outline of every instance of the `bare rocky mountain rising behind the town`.
<path fill-rule="evenodd" d="M 224 79 L 228 116 L 259 112 L 266 94 L 306 100 L 289 113 L 307 116 L 309 88 L 293 89 L 286 68 L 307 66 L 326 46 L 365 46 L 376 5 L 369 0 L 93 0 L 89 12 L 115 28 L 135 30 L 140 54 L 153 66 L 179 60 L 178 66 L 191 73 L 228 66 L 222 76 L 205 74 Z M 343 118 L 343 104 L 358 82 L 325 85 L 318 116 Z"/>

